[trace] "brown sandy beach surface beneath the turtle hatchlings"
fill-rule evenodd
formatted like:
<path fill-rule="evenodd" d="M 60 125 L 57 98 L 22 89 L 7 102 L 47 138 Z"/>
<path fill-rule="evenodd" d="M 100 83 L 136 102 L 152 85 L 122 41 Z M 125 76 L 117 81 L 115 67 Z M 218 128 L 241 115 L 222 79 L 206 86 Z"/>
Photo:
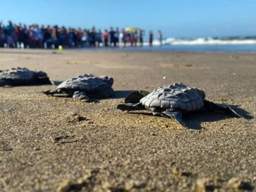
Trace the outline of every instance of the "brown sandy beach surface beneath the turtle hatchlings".
<path fill-rule="evenodd" d="M 18 66 L 56 83 L 112 76 L 116 95 L 88 103 L 41 93 L 54 85 L 0 88 L 0 191 L 256 191 L 256 54 L 0 49 L 0 70 Z M 184 128 L 116 109 L 132 90 L 175 82 L 244 118 L 193 113 Z"/>

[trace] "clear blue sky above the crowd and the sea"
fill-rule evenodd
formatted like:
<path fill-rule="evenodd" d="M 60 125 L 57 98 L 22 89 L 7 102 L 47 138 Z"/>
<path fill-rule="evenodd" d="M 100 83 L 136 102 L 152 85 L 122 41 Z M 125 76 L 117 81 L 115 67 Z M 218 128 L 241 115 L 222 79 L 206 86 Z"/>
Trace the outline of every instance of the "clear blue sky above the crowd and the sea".
<path fill-rule="evenodd" d="M 105 29 L 161 29 L 164 37 L 256 35 L 256 0 L 0 0 L 0 20 Z"/>

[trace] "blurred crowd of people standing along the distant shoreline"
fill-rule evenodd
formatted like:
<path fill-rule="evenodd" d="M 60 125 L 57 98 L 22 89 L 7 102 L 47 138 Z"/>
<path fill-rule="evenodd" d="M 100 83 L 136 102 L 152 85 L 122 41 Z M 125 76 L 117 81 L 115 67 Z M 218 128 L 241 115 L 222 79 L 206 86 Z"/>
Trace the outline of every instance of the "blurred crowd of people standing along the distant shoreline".
<path fill-rule="evenodd" d="M 161 35 L 161 41 L 159 34 Z M 96 46 L 143 46 L 143 30 L 125 31 L 115 30 L 111 27 L 96 31 L 92 29 L 65 28 L 56 26 L 44 27 L 33 24 L 30 26 L 8 24 L 4 26 L 0 21 L 0 47 L 17 48 L 57 48 L 62 47 L 96 47 Z M 158 32 L 159 41 L 162 42 L 162 33 Z M 152 45 L 153 33 L 149 32 L 149 45 Z"/>

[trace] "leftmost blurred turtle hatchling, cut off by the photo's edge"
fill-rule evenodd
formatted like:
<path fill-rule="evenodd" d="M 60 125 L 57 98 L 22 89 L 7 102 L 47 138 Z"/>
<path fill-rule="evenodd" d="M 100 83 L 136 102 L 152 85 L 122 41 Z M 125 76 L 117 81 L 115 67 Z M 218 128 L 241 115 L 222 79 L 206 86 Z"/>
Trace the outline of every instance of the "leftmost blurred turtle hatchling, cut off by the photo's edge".
<path fill-rule="evenodd" d="M 27 68 L 11 68 L 9 70 L 0 70 L 0 87 L 5 85 L 36 85 L 36 84 L 54 84 L 47 74 L 43 71 L 31 71 Z"/>

